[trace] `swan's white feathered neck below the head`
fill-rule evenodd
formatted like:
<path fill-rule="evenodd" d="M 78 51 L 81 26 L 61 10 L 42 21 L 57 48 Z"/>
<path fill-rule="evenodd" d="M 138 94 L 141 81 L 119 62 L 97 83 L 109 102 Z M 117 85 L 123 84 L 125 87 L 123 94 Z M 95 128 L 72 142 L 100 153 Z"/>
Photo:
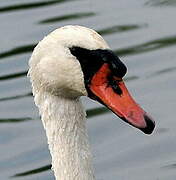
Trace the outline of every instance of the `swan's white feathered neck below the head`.
<path fill-rule="evenodd" d="M 94 180 L 80 100 L 45 94 L 35 97 L 35 102 L 46 130 L 56 180 Z"/>

